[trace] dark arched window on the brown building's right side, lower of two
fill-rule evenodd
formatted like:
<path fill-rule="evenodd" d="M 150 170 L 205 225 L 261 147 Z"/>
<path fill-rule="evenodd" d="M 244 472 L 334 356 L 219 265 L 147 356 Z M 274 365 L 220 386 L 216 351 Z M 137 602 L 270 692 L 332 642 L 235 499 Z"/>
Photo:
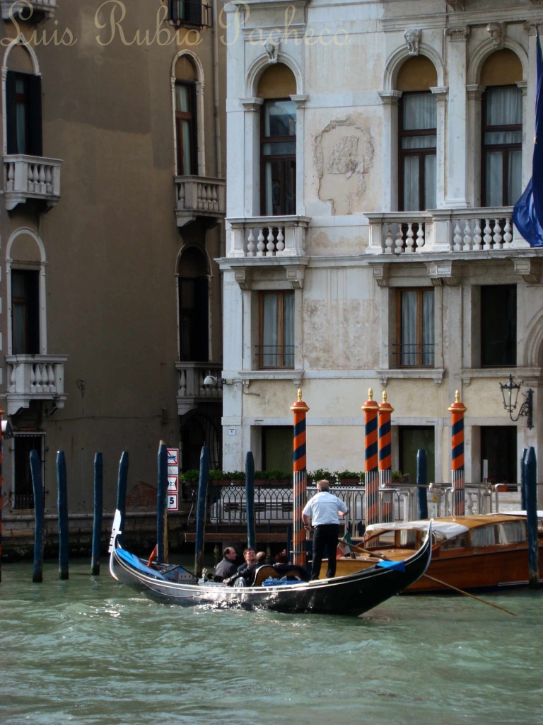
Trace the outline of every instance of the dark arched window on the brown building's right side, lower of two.
<path fill-rule="evenodd" d="M 178 267 L 179 359 L 209 360 L 209 278 L 206 258 L 198 247 L 182 252 Z"/>

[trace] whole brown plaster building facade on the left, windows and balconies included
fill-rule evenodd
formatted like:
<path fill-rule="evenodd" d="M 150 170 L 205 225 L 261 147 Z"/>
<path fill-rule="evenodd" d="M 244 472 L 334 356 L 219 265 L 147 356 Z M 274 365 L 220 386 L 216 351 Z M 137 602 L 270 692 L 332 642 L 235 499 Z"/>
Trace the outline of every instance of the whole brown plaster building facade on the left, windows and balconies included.
<path fill-rule="evenodd" d="M 156 505 L 159 442 L 220 465 L 224 54 L 216 3 L 2 1 L 0 201 L 4 517 Z M 4 536 L 7 529 L 4 527 Z"/>

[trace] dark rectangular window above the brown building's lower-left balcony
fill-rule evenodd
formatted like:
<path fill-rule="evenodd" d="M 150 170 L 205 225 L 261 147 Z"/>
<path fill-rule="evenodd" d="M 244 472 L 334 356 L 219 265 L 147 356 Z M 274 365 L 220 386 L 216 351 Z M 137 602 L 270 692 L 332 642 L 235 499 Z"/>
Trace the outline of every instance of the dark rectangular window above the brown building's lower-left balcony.
<path fill-rule="evenodd" d="M 11 278 L 12 355 L 39 355 L 39 272 L 12 269 Z"/>

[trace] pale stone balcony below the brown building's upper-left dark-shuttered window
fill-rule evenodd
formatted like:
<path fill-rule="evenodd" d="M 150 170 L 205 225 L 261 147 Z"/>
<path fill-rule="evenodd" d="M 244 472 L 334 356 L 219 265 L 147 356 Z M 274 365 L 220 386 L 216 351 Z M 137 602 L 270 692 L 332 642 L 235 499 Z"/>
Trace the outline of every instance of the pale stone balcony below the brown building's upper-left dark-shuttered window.
<path fill-rule="evenodd" d="M 4 156 L 4 196 L 8 211 L 29 199 L 54 207 L 60 199 L 59 159 L 12 154 Z"/>

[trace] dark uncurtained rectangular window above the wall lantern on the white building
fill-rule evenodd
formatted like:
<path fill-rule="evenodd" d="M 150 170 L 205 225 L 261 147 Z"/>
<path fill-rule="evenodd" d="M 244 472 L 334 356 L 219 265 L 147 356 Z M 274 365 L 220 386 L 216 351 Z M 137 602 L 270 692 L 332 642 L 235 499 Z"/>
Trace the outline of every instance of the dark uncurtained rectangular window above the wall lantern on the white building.
<path fill-rule="evenodd" d="M 517 364 L 517 288 L 515 284 L 481 287 L 481 367 Z"/>

